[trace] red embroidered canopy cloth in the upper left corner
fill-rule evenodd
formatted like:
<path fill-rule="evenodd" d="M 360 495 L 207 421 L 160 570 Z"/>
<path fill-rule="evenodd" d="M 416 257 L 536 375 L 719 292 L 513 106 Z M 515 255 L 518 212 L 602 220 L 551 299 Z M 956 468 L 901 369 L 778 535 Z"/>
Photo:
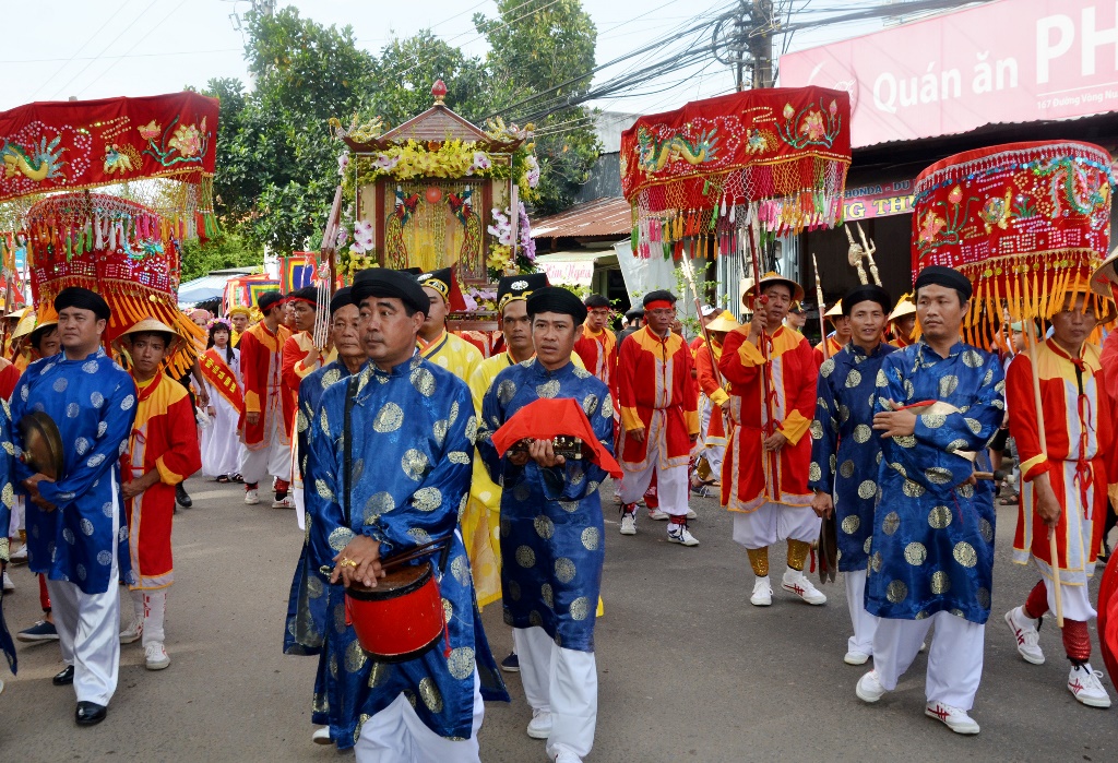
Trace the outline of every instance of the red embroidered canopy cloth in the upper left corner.
<path fill-rule="evenodd" d="M 34 103 L 0 113 L 0 201 L 142 178 L 212 177 L 218 102 L 197 93 Z"/>

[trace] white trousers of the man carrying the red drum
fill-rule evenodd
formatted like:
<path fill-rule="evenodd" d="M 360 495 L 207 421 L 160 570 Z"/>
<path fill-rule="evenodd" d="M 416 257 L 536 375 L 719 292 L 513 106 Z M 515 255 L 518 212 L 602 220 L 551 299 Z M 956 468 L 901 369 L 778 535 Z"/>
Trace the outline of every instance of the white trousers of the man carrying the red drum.
<path fill-rule="evenodd" d="M 364 722 L 354 752 L 358 763 L 481 763 L 477 732 L 485 705 L 474 670 L 474 725 L 468 740 L 452 742 L 424 725 L 402 694 Z"/>

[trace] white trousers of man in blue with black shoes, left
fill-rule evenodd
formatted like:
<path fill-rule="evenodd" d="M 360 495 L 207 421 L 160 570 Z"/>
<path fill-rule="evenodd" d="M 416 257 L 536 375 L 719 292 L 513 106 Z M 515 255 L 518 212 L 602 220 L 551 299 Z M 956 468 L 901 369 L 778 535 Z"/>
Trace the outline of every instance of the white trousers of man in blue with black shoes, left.
<path fill-rule="evenodd" d="M 74 693 L 78 702 L 107 705 L 116 690 L 121 667 L 121 586 L 117 584 L 116 533 L 120 530 L 120 502 L 113 483 L 113 556 L 108 590 L 84 593 L 74 583 L 47 580 L 50 610 L 58 630 L 63 661 L 74 666 Z"/>

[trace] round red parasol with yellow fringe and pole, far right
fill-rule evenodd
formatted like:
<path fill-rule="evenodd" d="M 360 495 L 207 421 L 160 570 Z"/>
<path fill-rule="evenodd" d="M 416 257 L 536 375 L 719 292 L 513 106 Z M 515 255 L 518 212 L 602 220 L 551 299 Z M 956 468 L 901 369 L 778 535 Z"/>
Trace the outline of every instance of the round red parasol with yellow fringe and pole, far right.
<path fill-rule="evenodd" d="M 948 156 L 916 181 L 913 277 L 928 265 L 963 273 L 974 285 L 965 338 L 992 347 L 1003 307 L 1014 322 L 1035 323 L 1087 286 L 1109 247 L 1114 183 L 1110 154 L 1090 143 L 1013 143 Z M 1040 446 L 1048 452 L 1035 341 L 1030 331 L 1024 337 Z M 1049 541 L 1057 566 L 1051 530 Z M 1062 628 L 1059 574 L 1053 582 Z"/>

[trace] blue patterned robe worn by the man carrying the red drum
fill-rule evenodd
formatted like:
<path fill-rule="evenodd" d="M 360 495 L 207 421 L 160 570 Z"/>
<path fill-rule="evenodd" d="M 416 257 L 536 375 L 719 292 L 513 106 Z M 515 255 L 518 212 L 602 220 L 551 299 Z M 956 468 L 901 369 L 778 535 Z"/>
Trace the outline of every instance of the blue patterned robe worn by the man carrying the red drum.
<path fill-rule="evenodd" d="M 352 410 L 353 512 L 347 524 L 339 496 L 344 475 L 345 398 L 351 384 L 357 388 Z M 400 694 L 413 702 L 419 718 L 436 734 L 468 738 L 475 667 L 483 696 L 508 699 L 477 613 L 465 547 L 456 533 L 458 512 L 470 488 L 476 428 L 465 382 L 419 355 L 391 373 L 369 363 L 349 382 L 333 384 L 322 393 L 311 421 L 305 480 L 312 568 L 333 568 L 333 557 L 357 533 L 380 541 L 381 556 L 452 536 L 442 571 L 438 557 L 434 557 L 448 616 L 448 652 L 440 643 L 406 662 L 377 662 L 345 624 L 341 586 L 331 585 L 322 592 L 333 629 L 324 645 L 326 715 L 331 737 L 341 748 L 352 747 L 364 719 Z"/>

